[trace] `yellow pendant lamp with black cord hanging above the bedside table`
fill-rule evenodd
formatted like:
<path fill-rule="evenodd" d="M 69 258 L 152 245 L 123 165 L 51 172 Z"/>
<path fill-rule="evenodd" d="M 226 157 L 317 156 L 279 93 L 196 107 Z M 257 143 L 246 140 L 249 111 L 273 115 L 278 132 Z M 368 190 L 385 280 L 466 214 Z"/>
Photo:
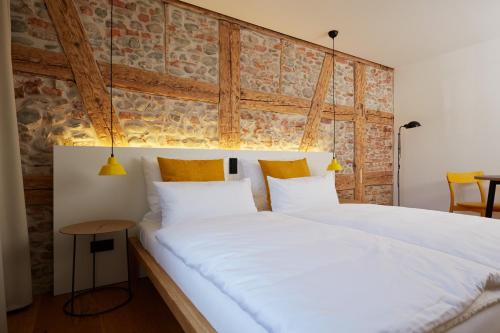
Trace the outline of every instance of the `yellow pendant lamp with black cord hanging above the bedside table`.
<path fill-rule="evenodd" d="M 109 26 L 109 50 L 110 50 L 110 70 L 109 70 L 109 81 L 110 81 L 110 99 L 109 99 L 109 117 L 111 122 L 111 156 L 108 157 L 108 161 L 105 165 L 101 167 L 99 171 L 99 176 L 123 176 L 127 172 L 125 168 L 118 162 L 118 159 L 114 155 L 114 133 L 113 133 L 113 0 L 111 1 L 111 24 Z"/>

